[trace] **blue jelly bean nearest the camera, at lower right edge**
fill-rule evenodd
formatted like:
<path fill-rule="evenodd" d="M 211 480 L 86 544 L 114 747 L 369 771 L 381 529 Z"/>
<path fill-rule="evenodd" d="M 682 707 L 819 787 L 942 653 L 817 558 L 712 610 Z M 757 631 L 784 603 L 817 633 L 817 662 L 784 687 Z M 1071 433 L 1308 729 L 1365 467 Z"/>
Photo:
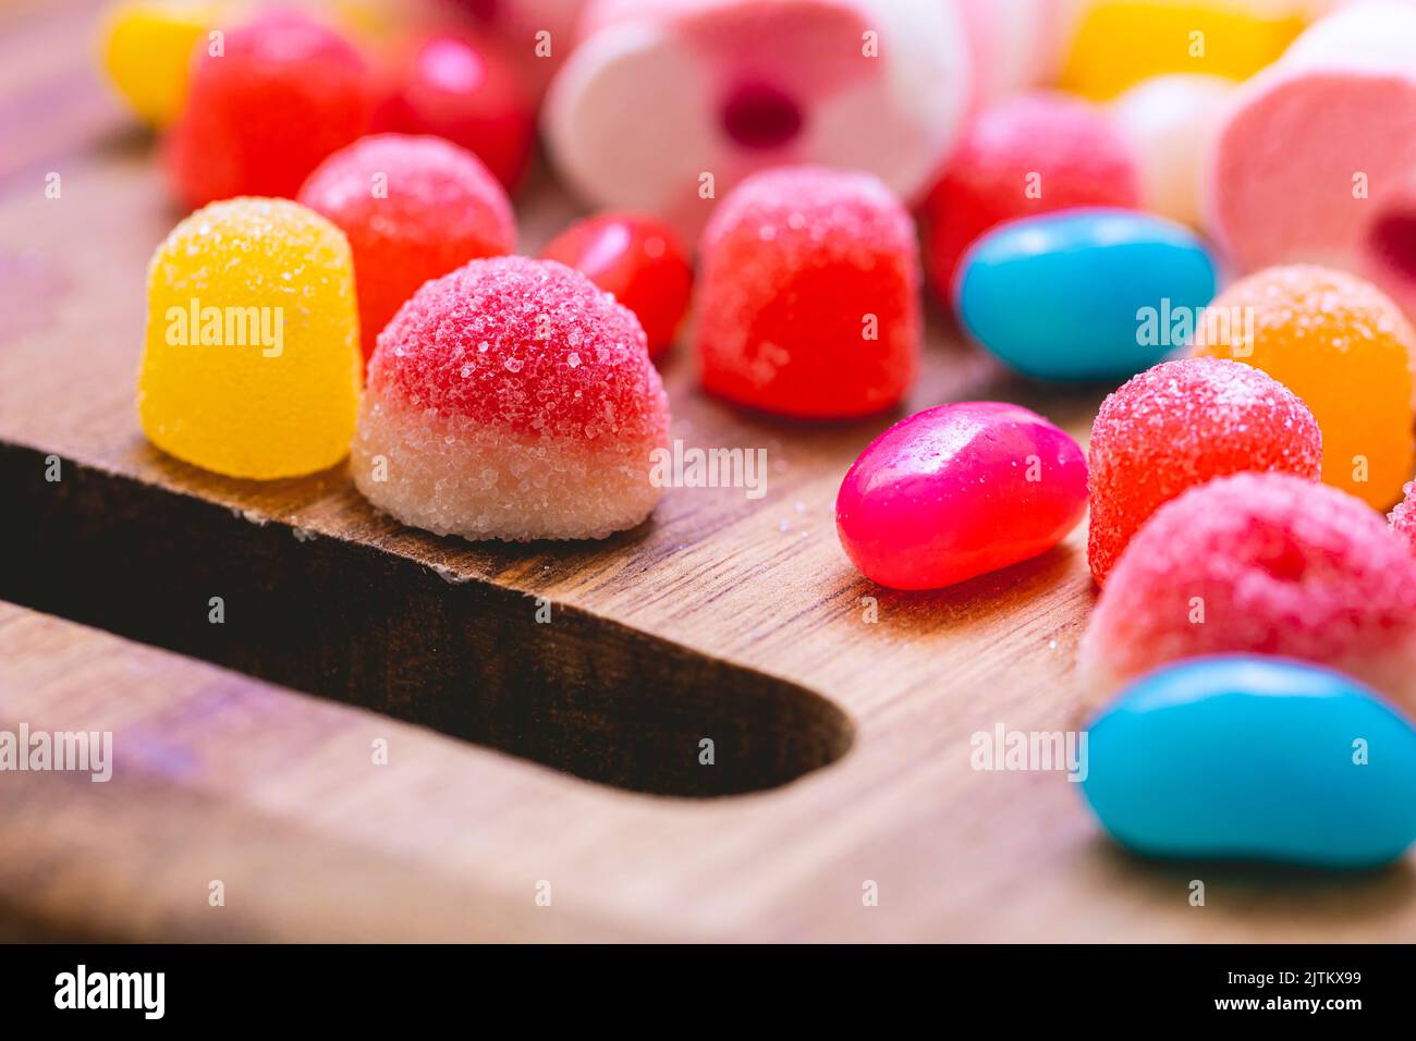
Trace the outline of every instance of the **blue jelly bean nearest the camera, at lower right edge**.
<path fill-rule="evenodd" d="M 1092 722 L 1082 789 L 1147 855 L 1375 867 L 1416 840 L 1416 729 L 1341 673 L 1189 659 Z"/>

